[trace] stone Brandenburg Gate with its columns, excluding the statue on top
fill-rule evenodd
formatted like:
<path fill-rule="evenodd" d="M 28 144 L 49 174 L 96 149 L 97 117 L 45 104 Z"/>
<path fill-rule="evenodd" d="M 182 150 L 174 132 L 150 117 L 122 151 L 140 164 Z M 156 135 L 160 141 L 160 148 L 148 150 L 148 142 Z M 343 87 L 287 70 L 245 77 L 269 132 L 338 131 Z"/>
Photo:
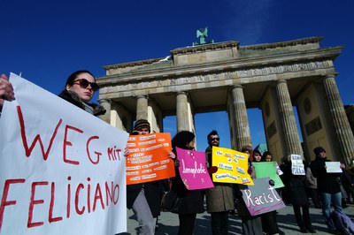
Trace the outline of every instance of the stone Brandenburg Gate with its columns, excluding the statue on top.
<path fill-rule="evenodd" d="M 195 132 L 196 113 L 226 110 L 231 146 L 240 150 L 251 143 L 247 109 L 258 108 L 276 160 L 297 154 L 309 161 L 322 146 L 328 158 L 350 163 L 354 137 L 335 83 L 334 60 L 343 48 L 320 48 L 321 39 L 204 43 L 172 49 L 169 57 L 106 65 L 97 79 L 107 110 L 102 118 L 128 133 L 145 118 L 163 132 L 163 118 L 175 115 L 177 132 Z"/>

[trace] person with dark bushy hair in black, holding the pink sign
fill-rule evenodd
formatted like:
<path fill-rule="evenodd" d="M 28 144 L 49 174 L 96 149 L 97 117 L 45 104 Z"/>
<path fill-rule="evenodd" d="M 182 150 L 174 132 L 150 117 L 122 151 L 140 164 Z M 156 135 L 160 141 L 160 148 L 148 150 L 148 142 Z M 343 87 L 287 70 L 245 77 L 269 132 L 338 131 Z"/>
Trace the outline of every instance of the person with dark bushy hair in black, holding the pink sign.
<path fill-rule="evenodd" d="M 180 198 L 178 208 L 178 218 L 180 220 L 179 235 L 192 235 L 196 223 L 196 214 L 204 212 L 204 190 L 188 190 L 184 186 L 180 171 L 178 170 L 180 160 L 176 154 L 176 148 L 194 150 L 194 144 L 195 134 L 188 131 L 177 133 L 172 140 L 173 153 L 176 155 L 176 176 L 172 178 L 172 190 Z"/>

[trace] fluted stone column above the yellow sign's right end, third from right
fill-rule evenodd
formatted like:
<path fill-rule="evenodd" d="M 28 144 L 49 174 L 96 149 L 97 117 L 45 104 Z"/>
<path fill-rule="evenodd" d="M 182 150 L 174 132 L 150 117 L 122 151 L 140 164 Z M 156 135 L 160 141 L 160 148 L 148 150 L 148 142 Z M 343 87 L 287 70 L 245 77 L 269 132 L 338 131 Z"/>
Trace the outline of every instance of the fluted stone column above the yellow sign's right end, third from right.
<path fill-rule="evenodd" d="M 250 125 L 247 117 L 246 102 L 243 95 L 243 87 L 236 85 L 232 87 L 232 103 L 235 117 L 235 148 L 241 151 L 245 145 L 251 144 L 250 141 Z"/>

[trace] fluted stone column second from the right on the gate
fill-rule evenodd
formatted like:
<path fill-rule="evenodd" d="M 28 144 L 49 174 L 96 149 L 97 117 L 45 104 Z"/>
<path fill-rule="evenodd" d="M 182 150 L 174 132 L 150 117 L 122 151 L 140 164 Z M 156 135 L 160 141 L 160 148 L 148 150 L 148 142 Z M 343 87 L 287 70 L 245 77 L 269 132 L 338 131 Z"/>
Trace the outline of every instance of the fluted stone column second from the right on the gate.
<path fill-rule="evenodd" d="M 304 155 L 303 149 L 301 148 L 299 133 L 297 132 L 296 128 L 296 120 L 293 105 L 289 95 L 287 81 L 278 81 L 275 89 L 279 104 L 281 131 L 283 133 L 283 156 L 290 154 Z"/>

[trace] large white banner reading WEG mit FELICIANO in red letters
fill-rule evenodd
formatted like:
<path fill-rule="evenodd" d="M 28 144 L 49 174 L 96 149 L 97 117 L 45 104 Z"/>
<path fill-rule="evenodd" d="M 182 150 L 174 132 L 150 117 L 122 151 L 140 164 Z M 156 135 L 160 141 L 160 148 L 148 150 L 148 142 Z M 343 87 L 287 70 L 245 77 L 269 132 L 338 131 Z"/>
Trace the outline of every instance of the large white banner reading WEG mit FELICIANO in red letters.
<path fill-rule="evenodd" d="M 128 134 L 11 74 L 0 117 L 0 234 L 127 231 Z"/>

